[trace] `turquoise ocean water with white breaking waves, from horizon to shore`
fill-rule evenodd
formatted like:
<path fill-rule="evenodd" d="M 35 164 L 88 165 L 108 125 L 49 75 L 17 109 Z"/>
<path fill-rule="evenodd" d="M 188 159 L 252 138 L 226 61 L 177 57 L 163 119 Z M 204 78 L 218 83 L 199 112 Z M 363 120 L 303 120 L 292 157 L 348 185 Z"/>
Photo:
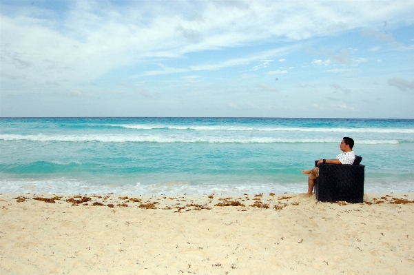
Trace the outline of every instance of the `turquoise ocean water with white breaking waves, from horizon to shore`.
<path fill-rule="evenodd" d="M 343 136 L 366 192 L 414 191 L 414 120 L 3 118 L 0 192 L 306 192 L 301 170 Z"/>

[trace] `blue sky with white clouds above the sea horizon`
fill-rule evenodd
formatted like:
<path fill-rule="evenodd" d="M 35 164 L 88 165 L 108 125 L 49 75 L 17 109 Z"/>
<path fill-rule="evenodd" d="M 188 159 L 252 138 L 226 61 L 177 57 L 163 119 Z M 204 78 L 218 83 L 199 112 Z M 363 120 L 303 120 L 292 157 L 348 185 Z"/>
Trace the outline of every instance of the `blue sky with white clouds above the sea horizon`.
<path fill-rule="evenodd" d="M 414 119 L 414 1 L 3 1 L 1 116 Z"/>

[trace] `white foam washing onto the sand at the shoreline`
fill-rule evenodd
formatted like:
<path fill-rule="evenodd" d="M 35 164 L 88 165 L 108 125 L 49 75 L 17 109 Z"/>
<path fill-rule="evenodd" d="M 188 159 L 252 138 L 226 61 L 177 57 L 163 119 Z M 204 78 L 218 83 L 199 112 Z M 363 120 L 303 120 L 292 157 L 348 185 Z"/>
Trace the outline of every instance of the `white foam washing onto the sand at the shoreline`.
<path fill-rule="evenodd" d="M 50 193 L 50 194 L 275 194 L 303 193 L 307 183 L 240 183 L 200 184 L 167 182 L 149 185 L 97 185 L 72 179 L 50 179 L 43 181 L 0 181 L 1 193 Z M 366 182 L 364 192 L 413 192 L 414 182 L 376 183 Z"/>

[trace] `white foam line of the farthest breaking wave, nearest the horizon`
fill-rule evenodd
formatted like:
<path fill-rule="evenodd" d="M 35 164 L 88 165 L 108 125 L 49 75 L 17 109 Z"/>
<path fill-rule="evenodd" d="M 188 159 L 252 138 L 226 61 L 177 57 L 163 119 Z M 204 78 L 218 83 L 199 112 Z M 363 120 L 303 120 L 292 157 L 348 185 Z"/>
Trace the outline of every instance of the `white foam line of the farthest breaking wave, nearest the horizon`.
<path fill-rule="evenodd" d="M 400 133 L 414 134 L 411 128 L 269 128 L 269 127 L 242 127 L 242 126 L 178 126 L 178 125 L 142 125 L 142 124 L 111 124 L 112 127 L 121 127 L 136 130 L 202 130 L 202 131 L 262 131 L 262 132 L 369 132 L 369 133 Z"/>

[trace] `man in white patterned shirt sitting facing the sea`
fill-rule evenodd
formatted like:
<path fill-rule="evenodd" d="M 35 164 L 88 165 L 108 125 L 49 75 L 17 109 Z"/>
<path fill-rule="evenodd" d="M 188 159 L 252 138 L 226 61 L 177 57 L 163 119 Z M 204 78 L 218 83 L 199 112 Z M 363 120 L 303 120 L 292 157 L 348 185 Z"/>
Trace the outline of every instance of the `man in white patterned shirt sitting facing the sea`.
<path fill-rule="evenodd" d="M 344 137 L 340 145 L 340 150 L 343 152 L 336 156 L 336 159 L 320 159 L 319 163 L 330 163 L 330 164 L 353 164 L 355 161 L 355 154 L 353 153 L 353 139 Z M 303 174 L 309 175 L 308 179 L 308 192 L 307 196 L 312 196 L 313 186 L 315 186 L 315 179 L 319 176 L 319 168 L 315 167 L 312 170 L 302 170 Z"/>

